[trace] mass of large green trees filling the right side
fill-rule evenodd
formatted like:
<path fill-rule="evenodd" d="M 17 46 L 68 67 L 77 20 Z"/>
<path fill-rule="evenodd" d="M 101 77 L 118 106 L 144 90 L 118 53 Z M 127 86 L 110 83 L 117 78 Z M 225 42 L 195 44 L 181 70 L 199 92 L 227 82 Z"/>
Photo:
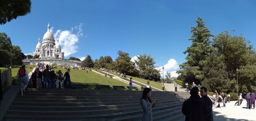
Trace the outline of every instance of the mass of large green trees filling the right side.
<path fill-rule="evenodd" d="M 256 91 L 256 54 L 249 40 L 232 36 L 223 31 L 214 36 L 205 26 L 202 18 L 191 27 L 192 41 L 183 53 L 186 62 L 180 65 L 179 80 L 197 84 L 202 83 L 210 91 L 237 93 Z M 212 39 L 212 40 L 211 40 Z"/>

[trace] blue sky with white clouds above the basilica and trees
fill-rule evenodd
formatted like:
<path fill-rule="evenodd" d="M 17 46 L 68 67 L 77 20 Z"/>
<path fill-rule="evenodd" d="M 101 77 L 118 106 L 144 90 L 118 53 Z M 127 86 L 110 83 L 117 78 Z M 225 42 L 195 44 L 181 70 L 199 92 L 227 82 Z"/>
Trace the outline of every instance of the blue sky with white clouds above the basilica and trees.
<path fill-rule="evenodd" d="M 182 52 L 191 45 L 190 28 L 198 16 L 216 36 L 235 30 L 252 45 L 256 39 L 255 1 L 135 1 L 55 0 L 31 1 L 31 13 L 0 25 L 13 45 L 24 54 L 35 51 L 50 23 L 55 41 L 60 39 L 65 58 L 109 55 L 116 59 L 122 50 L 134 57 L 147 54 L 156 66 L 174 75 L 186 62 Z M 162 70 L 161 70 L 162 71 Z"/>

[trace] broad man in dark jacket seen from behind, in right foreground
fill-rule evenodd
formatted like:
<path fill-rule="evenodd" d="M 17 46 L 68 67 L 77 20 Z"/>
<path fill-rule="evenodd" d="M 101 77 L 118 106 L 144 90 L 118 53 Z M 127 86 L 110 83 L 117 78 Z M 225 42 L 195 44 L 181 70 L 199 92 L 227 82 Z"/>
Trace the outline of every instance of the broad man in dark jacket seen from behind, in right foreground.
<path fill-rule="evenodd" d="M 206 120 L 206 115 L 209 114 L 209 109 L 206 102 L 198 96 L 198 88 L 190 90 L 190 98 L 183 102 L 182 113 L 186 115 L 185 120 Z"/>

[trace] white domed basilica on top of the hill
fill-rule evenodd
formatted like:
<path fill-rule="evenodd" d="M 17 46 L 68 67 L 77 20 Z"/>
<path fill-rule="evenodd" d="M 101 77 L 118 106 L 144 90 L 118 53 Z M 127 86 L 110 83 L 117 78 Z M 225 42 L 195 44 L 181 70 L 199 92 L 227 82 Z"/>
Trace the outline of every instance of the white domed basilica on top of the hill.
<path fill-rule="evenodd" d="M 33 52 L 33 56 L 35 55 L 38 55 L 39 59 L 64 59 L 64 52 L 61 51 L 59 39 L 55 44 L 55 39 L 50 31 L 49 23 L 42 44 L 40 43 L 40 39 L 38 39 L 36 50 Z"/>

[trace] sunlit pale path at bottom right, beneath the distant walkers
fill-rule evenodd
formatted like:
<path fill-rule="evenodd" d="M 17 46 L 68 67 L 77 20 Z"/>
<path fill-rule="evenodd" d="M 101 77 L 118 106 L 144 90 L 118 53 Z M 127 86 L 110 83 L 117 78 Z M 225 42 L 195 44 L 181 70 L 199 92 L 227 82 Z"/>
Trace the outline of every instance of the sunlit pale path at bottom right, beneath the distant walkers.
<path fill-rule="evenodd" d="M 234 106 L 236 101 L 230 101 L 226 108 L 215 108 L 213 110 L 214 120 L 256 120 L 256 109 L 246 109 L 246 100 L 241 106 Z"/>

